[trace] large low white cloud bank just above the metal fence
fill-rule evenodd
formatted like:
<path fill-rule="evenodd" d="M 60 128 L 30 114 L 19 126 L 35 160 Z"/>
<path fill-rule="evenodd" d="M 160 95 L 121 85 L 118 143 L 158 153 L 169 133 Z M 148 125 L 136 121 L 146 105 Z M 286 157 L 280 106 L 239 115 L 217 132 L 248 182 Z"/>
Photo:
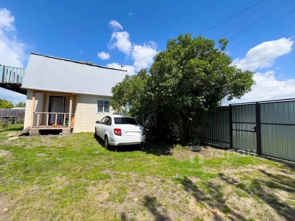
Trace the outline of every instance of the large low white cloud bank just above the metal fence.
<path fill-rule="evenodd" d="M 230 103 L 276 100 L 294 98 L 295 79 L 277 80 L 273 70 L 255 73 L 252 91 L 245 94 L 240 100 L 234 99 Z"/>

